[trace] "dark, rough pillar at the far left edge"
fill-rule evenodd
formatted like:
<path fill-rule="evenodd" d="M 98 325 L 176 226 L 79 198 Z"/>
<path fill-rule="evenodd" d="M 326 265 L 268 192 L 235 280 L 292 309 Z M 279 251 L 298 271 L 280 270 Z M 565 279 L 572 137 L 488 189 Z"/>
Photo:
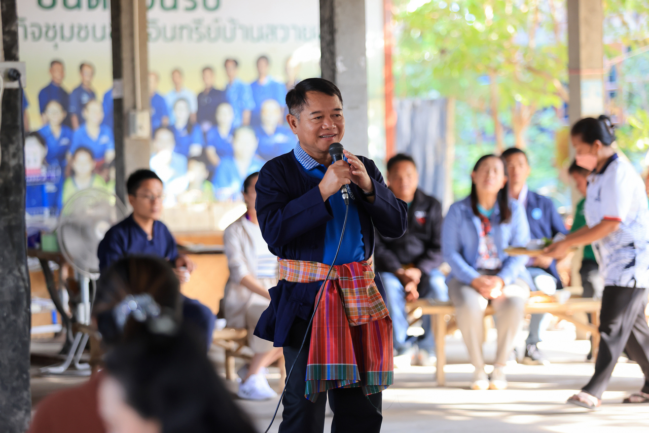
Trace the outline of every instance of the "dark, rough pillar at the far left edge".
<path fill-rule="evenodd" d="M 1 0 L 0 60 L 18 61 L 16 0 Z M 8 77 L 4 74 L 5 84 Z M 0 432 L 24 432 L 31 419 L 30 286 L 25 240 L 25 154 L 19 89 L 6 88 L 0 125 Z"/>

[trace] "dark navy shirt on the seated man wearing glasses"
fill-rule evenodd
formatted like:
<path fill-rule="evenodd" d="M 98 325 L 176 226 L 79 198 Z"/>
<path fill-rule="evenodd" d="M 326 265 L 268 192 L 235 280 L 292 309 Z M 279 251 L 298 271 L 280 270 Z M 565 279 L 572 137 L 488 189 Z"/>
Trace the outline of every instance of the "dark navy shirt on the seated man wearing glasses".
<path fill-rule="evenodd" d="M 112 263 L 132 254 L 147 254 L 174 262 L 178 257 L 176 240 L 161 221 L 154 221 L 153 236 L 147 234 L 133 219 L 133 214 L 117 223 L 106 232 L 99 242 L 99 271 L 105 271 Z"/>

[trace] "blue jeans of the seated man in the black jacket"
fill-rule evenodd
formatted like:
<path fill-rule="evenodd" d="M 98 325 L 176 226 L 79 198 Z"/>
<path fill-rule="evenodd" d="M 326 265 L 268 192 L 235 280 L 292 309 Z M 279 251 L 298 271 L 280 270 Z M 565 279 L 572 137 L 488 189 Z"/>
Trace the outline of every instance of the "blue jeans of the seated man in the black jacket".
<path fill-rule="evenodd" d="M 412 345 L 417 345 L 419 349 L 428 351 L 429 354 L 435 353 L 435 336 L 430 327 L 430 315 L 423 315 L 422 328 L 424 334 L 419 337 L 408 336 L 408 317 L 406 315 L 406 291 L 403 284 L 396 275 L 390 272 L 380 273 L 383 285 L 386 288 L 387 310 L 392 318 L 393 344 L 397 353 L 408 349 Z M 436 301 L 448 301 L 448 288 L 444 274 L 439 269 L 433 269 L 428 274 L 430 282 L 430 299 Z"/>

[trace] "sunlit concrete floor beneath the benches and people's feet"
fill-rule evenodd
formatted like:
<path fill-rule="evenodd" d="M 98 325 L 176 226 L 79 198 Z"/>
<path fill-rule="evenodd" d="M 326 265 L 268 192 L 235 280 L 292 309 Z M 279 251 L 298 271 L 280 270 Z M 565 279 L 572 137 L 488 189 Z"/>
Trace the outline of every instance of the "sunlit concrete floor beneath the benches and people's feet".
<path fill-rule="evenodd" d="M 521 332 L 523 341 L 526 332 Z M 506 367 L 509 389 L 504 391 L 469 390 L 472 366 L 468 364 L 461 335 L 447 337 L 447 386 L 437 387 L 435 367 L 410 367 L 400 363 L 395 369 L 395 384 L 384 391 L 382 432 L 616 432 L 649 431 L 649 404 L 621 404 L 628 393 L 643 384 L 640 367 L 620 363 L 615 367 L 600 412 L 565 404 L 565 400 L 591 377 L 593 364 L 583 362 L 588 341 L 575 341 L 574 329 L 545 333 L 539 344 L 552 364 L 522 365 L 510 362 Z M 495 351 L 495 332 L 485 344 L 485 358 Z M 217 361 L 222 354 L 212 353 Z M 36 370 L 34 370 L 36 371 Z M 269 382 L 278 385 L 277 369 L 271 369 Z M 34 401 L 82 378 L 32 377 Z M 236 390 L 236 384 L 230 384 Z M 268 426 L 278 399 L 263 402 L 238 401 L 263 432 Z M 280 408 L 271 432 L 277 432 Z M 326 416 L 325 431 L 330 431 L 332 414 Z"/>

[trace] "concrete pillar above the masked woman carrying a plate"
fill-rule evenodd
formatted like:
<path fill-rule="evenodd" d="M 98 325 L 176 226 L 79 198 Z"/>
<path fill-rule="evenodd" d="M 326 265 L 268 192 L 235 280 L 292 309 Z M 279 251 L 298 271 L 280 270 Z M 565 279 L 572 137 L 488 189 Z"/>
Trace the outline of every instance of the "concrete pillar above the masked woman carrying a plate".
<path fill-rule="evenodd" d="M 568 0 L 570 125 L 604 112 L 602 0 Z"/>

